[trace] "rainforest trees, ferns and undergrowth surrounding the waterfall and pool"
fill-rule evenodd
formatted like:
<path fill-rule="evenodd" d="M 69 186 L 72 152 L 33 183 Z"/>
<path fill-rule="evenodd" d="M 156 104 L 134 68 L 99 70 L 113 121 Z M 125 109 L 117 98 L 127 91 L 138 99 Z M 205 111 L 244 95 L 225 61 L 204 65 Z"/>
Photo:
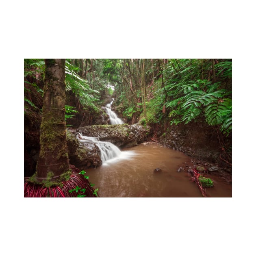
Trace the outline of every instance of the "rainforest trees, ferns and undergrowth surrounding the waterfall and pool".
<path fill-rule="evenodd" d="M 110 102 L 127 134 L 144 127 L 145 140 L 231 180 L 232 59 L 24 59 L 24 196 L 98 196 L 75 167 L 66 130 L 106 126 Z"/>

